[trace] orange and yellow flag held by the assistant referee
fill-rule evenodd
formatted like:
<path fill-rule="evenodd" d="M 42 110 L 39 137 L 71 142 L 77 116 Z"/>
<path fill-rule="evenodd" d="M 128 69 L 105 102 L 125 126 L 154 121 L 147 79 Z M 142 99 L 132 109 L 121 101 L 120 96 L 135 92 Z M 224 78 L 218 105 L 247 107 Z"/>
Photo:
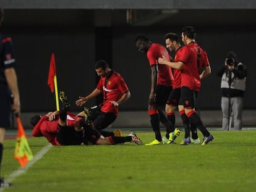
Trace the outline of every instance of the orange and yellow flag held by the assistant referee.
<path fill-rule="evenodd" d="M 18 133 L 17 133 L 16 144 L 15 144 L 14 158 L 17 161 L 19 161 L 21 167 L 25 167 L 27 162 L 33 159 L 33 154 L 28 145 L 25 131 L 20 121 L 20 117 L 17 116 L 16 120 L 17 120 Z"/>

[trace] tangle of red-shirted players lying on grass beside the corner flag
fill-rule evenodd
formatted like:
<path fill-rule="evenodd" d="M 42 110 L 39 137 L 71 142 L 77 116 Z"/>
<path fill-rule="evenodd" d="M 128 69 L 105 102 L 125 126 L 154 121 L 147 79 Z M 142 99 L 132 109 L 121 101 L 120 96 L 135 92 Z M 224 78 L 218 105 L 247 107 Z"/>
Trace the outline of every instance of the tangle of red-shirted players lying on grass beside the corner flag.
<path fill-rule="evenodd" d="M 30 119 L 34 126 L 33 136 L 45 136 L 53 145 L 80 145 L 80 144 L 119 144 L 132 142 L 142 144 L 134 132 L 129 136 L 102 136 L 98 130 L 87 121 L 87 114 L 80 112 L 78 115 L 67 112 L 70 107 L 64 91 L 60 91 L 60 111 L 49 112 L 41 117 L 35 115 Z"/>

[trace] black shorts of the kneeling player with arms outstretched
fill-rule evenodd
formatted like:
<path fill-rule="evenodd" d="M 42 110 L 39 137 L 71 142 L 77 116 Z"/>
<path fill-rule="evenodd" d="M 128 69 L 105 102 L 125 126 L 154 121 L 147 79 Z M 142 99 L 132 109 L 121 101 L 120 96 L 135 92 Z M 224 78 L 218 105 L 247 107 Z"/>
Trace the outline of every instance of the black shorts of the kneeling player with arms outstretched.
<path fill-rule="evenodd" d="M 102 112 L 99 106 L 91 107 L 89 111 L 91 112 L 91 115 L 88 120 L 93 122 L 93 127 L 97 130 L 103 130 L 117 118 L 117 116 L 112 112 Z"/>

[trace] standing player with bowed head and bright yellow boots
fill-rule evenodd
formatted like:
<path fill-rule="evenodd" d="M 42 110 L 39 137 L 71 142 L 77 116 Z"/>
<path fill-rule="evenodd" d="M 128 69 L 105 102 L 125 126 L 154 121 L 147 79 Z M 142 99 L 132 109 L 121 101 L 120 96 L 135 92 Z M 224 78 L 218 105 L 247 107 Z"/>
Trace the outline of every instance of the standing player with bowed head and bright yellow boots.
<path fill-rule="evenodd" d="M 139 35 L 135 38 L 135 46 L 139 52 L 147 54 L 148 62 L 151 67 L 151 90 L 148 99 L 148 114 L 150 123 L 155 132 L 155 140 L 145 145 L 154 145 L 164 143 L 173 143 L 176 137 L 181 133 L 174 128 L 166 117 L 163 109 L 172 90 L 174 83 L 171 68 L 165 65 L 158 65 L 158 57 L 165 56 L 169 61 L 169 54 L 166 48 L 158 43 L 153 43 L 146 36 Z M 160 131 L 160 122 L 166 127 L 166 136 L 162 138 Z M 169 140 L 169 141 L 166 141 Z"/>

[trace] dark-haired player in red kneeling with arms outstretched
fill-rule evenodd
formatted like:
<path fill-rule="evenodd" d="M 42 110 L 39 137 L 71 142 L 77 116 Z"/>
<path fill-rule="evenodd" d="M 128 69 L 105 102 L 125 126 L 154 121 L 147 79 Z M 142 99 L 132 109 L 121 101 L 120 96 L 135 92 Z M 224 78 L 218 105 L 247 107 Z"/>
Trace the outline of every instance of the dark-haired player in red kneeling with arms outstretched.
<path fill-rule="evenodd" d="M 95 90 L 88 96 L 80 96 L 75 104 L 77 106 L 82 106 L 90 99 L 103 94 L 103 102 L 99 106 L 91 107 L 89 110 L 92 125 L 101 135 L 113 136 L 114 133 L 109 131 L 104 131 L 111 123 L 116 120 L 118 115 L 118 107 L 130 98 L 129 88 L 124 81 L 122 76 L 111 70 L 106 61 L 100 60 L 95 64 L 95 71 L 100 76 L 100 81 L 96 86 Z"/>

